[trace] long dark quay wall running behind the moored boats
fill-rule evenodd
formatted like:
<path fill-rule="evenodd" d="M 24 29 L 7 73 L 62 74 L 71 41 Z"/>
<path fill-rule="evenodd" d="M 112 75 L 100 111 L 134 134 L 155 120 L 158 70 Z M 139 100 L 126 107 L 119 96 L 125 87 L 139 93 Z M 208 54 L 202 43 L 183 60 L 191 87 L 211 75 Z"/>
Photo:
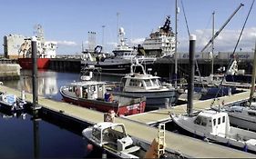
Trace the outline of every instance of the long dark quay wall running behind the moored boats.
<path fill-rule="evenodd" d="M 210 59 L 197 59 L 200 70 L 200 75 L 210 75 L 211 60 Z M 230 65 L 230 60 L 215 59 L 214 60 L 214 74 L 220 73 L 219 68 Z M 245 74 L 251 74 L 252 60 L 240 60 L 238 62 L 239 69 L 244 69 Z M 189 59 L 178 59 L 178 76 L 186 77 L 189 75 Z M 197 69 L 197 67 L 195 67 Z M 77 58 L 52 58 L 50 61 L 49 69 L 60 72 L 76 72 L 81 70 L 80 59 Z M 152 65 L 151 74 L 157 73 L 161 77 L 170 77 L 175 73 L 175 60 L 173 58 L 159 58 L 154 65 Z M 121 73 L 120 73 L 121 74 Z M 195 75 L 199 73 L 195 71 Z"/>

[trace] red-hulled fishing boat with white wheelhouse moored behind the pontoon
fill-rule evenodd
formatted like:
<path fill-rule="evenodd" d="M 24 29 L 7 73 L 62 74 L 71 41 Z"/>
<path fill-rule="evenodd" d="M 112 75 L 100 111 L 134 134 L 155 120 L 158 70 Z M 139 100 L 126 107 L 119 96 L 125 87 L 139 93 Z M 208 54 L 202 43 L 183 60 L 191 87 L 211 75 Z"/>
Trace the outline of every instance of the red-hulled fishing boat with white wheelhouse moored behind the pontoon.
<path fill-rule="evenodd" d="M 145 111 L 146 98 L 125 94 L 110 94 L 108 83 L 91 80 L 89 75 L 82 75 L 82 81 L 61 86 L 60 94 L 67 103 L 95 109 L 100 112 L 113 110 L 118 115 L 140 114 Z"/>

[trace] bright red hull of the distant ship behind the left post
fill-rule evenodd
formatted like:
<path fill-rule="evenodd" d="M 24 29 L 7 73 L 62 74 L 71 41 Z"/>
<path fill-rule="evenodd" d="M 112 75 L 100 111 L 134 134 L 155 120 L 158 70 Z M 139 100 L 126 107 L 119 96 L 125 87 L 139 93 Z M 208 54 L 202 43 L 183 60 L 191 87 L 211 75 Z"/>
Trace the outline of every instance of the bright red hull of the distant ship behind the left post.
<path fill-rule="evenodd" d="M 18 64 L 22 69 L 32 69 L 32 58 L 18 58 Z M 37 68 L 47 69 L 50 64 L 50 58 L 37 58 Z"/>

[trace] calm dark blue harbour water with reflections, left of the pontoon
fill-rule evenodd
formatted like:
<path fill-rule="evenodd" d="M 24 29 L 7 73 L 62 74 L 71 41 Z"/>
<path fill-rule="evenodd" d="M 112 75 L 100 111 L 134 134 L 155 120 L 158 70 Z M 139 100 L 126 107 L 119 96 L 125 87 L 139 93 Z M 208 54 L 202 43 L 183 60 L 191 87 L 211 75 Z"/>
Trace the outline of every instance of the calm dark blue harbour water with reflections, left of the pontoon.
<path fill-rule="evenodd" d="M 101 79 L 118 81 L 119 77 L 102 76 Z M 38 71 L 38 94 L 60 101 L 60 86 L 78 80 L 79 74 Z M 31 71 L 22 70 L 19 80 L 3 82 L 6 86 L 32 92 Z M 11 115 L 1 110 L 0 114 L 1 158 L 101 157 L 98 150 L 87 152 L 87 141 L 80 130 L 68 131 L 58 124 L 34 121 L 30 114 Z"/>

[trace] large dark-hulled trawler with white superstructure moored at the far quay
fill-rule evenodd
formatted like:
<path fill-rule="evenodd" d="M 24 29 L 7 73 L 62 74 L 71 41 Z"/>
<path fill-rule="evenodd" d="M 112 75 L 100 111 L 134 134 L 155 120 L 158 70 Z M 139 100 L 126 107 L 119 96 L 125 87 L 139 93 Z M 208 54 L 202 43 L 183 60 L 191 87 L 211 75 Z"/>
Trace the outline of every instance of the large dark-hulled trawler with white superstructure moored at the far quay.
<path fill-rule="evenodd" d="M 101 68 L 102 74 L 126 75 L 129 73 L 130 65 L 135 62 L 135 59 L 138 59 L 140 64 L 152 68 L 157 58 L 145 55 L 141 45 L 138 47 L 128 46 L 124 35 L 124 29 L 120 27 L 119 43 L 118 47 L 113 50 L 114 56 L 107 58 L 107 55 L 101 52 L 102 46 L 97 45 L 94 51 L 83 52 L 81 66 L 94 65 Z"/>

